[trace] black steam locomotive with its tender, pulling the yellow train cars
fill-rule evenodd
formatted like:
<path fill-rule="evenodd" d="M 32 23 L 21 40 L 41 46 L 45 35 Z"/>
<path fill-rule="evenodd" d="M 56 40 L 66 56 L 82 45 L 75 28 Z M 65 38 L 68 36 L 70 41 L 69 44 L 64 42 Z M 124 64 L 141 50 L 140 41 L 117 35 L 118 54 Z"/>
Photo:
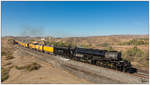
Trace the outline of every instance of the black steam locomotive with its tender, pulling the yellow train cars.
<path fill-rule="evenodd" d="M 133 68 L 129 61 L 122 59 L 121 52 L 117 51 L 87 49 L 78 47 L 54 47 L 54 54 L 84 63 L 90 63 L 123 72 L 137 72 L 137 69 Z"/>

